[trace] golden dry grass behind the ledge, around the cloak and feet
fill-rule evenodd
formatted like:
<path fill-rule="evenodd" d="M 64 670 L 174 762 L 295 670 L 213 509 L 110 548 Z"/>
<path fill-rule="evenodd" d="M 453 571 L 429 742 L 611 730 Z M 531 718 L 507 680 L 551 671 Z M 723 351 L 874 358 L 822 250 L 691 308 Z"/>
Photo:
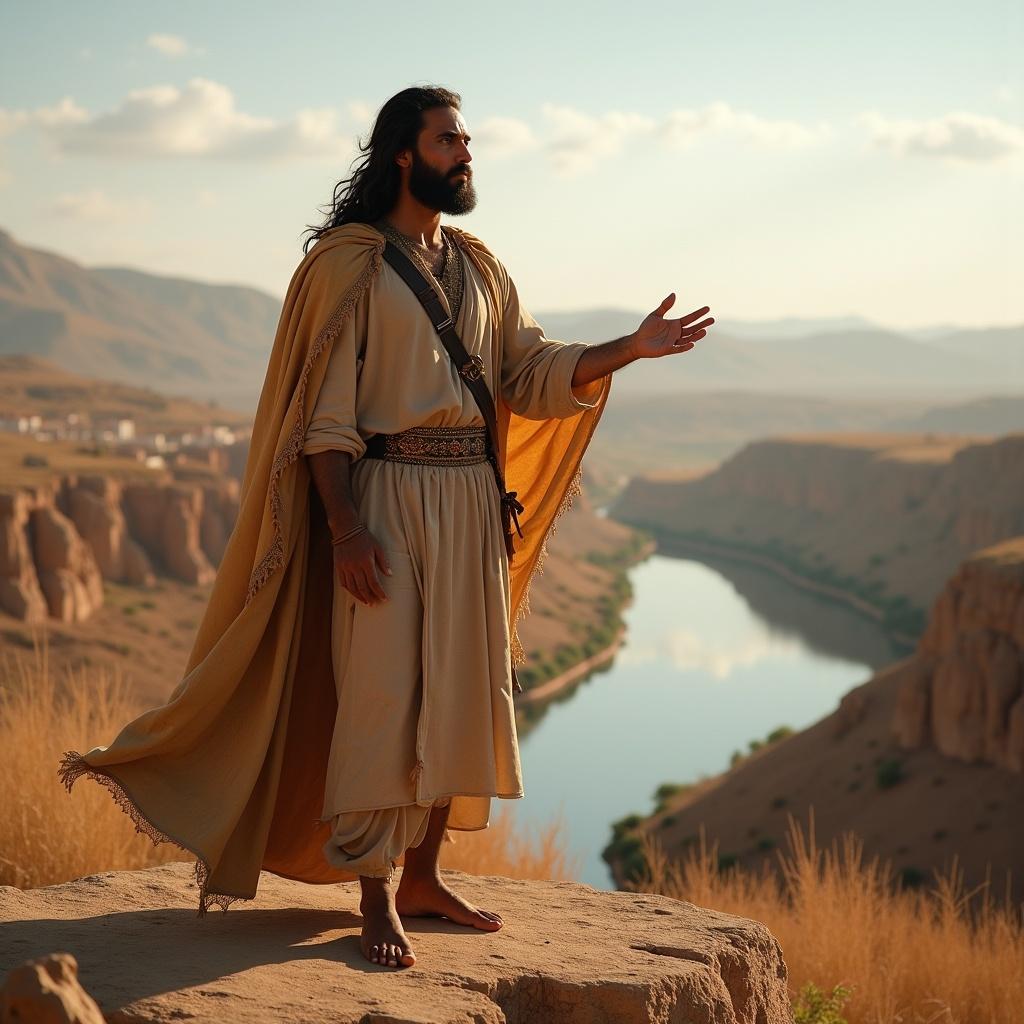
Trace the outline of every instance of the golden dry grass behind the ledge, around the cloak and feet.
<path fill-rule="evenodd" d="M 109 742 L 144 708 L 120 674 L 69 672 L 58 685 L 48 644 L 7 652 L 0 668 L 0 885 L 32 889 L 97 871 L 189 859 L 172 843 L 154 847 L 109 792 L 87 779 L 69 796 L 57 778 L 65 751 Z M 479 833 L 455 833 L 443 865 L 513 878 L 570 878 L 560 820 L 536 837 L 499 814 Z"/>

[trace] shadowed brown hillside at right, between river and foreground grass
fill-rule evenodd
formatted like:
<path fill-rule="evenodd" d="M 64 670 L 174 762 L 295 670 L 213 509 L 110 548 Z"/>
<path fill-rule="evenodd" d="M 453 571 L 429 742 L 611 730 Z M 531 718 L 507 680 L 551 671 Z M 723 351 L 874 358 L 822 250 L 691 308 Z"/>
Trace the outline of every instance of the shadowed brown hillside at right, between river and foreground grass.
<path fill-rule="evenodd" d="M 781 725 L 782 723 L 778 723 Z M 685 728 L 680 732 L 685 741 Z M 836 712 L 645 819 L 678 853 L 700 826 L 723 863 L 775 862 L 786 816 L 813 809 L 819 844 L 844 830 L 905 884 L 958 858 L 969 886 L 991 868 L 1024 878 L 1024 537 L 969 558 L 932 607 L 912 655 L 850 691 Z"/>

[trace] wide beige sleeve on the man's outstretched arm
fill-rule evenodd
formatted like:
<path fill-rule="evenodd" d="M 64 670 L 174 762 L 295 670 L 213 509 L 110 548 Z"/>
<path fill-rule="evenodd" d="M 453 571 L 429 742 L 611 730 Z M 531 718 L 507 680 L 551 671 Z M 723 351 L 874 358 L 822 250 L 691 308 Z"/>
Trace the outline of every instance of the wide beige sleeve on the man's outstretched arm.
<path fill-rule="evenodd" d="M 519 301 L 515 283 L 503 274 L 502 397 L 527 420 L 564 419 L 594 409 L 602 383 L 598 378 L 572 389 L 572 374 L 588 345 L 546 338 L 541 325 Z"/>

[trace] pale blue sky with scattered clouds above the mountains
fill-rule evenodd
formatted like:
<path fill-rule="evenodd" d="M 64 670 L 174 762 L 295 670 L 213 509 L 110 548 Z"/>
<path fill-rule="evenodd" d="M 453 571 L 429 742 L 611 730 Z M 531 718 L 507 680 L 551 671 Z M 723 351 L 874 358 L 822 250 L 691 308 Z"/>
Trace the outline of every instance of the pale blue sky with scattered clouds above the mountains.
<path fill-rule="evenodd" d="M 438 82 L 473 135 L 454 222 L 531 309 L 1024 321 L 1019 3 L 298 10 L 0 6 L 0 226 L 282 296 L 356 135 Z"/>

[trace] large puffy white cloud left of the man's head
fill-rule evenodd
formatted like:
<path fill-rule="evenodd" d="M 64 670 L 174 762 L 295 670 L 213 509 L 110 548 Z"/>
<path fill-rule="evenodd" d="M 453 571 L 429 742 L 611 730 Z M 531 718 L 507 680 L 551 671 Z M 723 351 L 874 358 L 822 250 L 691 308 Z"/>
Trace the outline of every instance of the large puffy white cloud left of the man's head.
<path fill-rule="evenodd" d="M 351 143 L 338 133 L 337 120 L 330 109 L 299 111 L 284 121 L 256 117 L 238 110 L 225 85 L 193 78 L 180 89 L 134 89 L 113 111 L 65 119 L 50 127 L 59 148 L 70 154 L 341 159 L 350 153 Z"/>

